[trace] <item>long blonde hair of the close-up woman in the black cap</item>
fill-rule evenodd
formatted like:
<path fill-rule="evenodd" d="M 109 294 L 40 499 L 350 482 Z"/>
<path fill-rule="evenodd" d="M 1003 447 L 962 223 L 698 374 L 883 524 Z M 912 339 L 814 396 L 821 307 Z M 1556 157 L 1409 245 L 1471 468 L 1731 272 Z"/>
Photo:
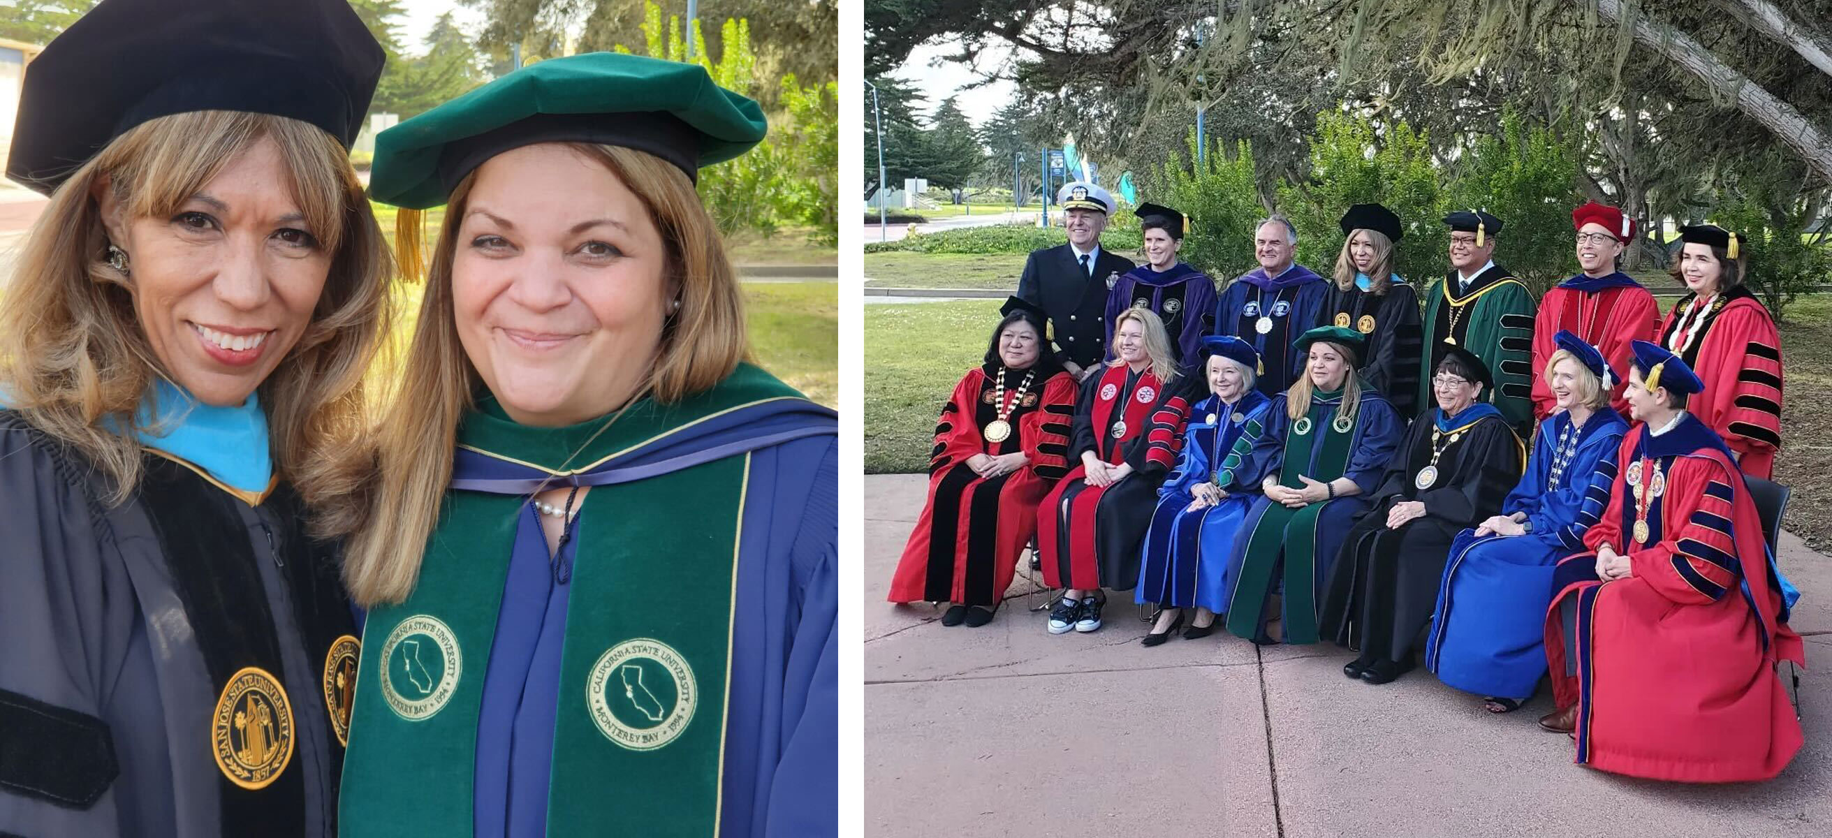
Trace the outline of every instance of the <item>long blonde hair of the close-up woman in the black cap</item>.
<path fill-rule="evenodd" d="M 126 218 L 170 216 L 262 138 L 280 150 L 304 227 L 332 255 L 311 323 L 256 387 L 275 473 L 322 526 L 354 504 L 355 479 L 343 453 L 363 431 L 363 372 L 387 334 L 394 262 L 363 183 L 330 134 L 227 110 L 150 119 L 77 167 L 33 224 L 0 301 L 0 387 L 27 424 L 110 480 L 110 504 L 139 484 L 136 414 L 154 378 L 167 374 L 134 314 L 134 277 L 103 259 L 108 233 L 90 193 L 108 178 Z"/>

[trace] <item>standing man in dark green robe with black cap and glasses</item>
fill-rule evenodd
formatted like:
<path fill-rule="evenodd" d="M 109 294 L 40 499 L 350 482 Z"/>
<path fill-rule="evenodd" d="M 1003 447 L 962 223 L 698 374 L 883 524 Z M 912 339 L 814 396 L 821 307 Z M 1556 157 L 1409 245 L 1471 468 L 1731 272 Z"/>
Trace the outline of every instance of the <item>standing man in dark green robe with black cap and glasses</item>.
<path fill-rule="evenodd" d="M 1533 433 L 1533 292 L 1495 264 L 1502 222 L 1469 209 L 1444 216 L 1451 227 L 1451 270 L 1425 292 L 1425 363 L 1442 347 L 1462 347 L 1493 372 L 1489 403 L 1521 436 Z M 1550 354 L 1550 352 L 1548 352 Z M 1429 367 L 1420 369 L 1420 405 L 1436 405 Z"/>

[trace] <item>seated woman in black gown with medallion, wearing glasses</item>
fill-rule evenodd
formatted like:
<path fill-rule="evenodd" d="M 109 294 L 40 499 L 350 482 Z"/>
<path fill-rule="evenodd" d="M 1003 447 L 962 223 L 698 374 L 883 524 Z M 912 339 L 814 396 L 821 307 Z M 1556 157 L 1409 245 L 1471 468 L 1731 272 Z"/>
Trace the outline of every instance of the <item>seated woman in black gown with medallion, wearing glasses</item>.
<path fill-rule="evenodd" d="M 1521 438 L 1488 402 L 1482 359 L 1447 347 L 1431 380 L 1438 407 L 1412 420 L 1369 512 L 1330 570 L 1323 631 L 1361 656 L 1350 678 L 1385 684 L 1412 669 L 1458 532 L 1500 512 L 1526 464 Z"/>

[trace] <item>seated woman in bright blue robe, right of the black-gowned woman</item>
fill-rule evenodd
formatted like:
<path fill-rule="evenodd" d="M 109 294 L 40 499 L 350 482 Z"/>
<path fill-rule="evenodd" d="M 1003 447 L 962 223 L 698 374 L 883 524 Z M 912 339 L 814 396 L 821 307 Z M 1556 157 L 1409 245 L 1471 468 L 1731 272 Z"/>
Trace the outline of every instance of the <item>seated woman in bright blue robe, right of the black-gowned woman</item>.
<path fill-rule="evenodd" d="M 1554 567 L 1585 550 L 1629 431 L 1608 405 L 1616 378 L 1603 356 L 1572 332 L 1559 332 L 1557 347 L 1544 378 L 1559 411 L 1539 424 L 1526 473 L 1500 515 L 1451 543 L 1425 638 L 1425 667 L 1486 697 L 1491 713 L 1517 710 L 1546 675 Z"/>

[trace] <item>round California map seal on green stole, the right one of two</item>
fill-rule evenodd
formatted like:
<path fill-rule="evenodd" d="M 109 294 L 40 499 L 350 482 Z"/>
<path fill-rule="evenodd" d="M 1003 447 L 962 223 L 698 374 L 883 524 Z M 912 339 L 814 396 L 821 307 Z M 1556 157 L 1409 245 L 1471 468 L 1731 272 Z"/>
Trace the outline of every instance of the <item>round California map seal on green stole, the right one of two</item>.
<path fill-rule="evenodd" d="M 636 638 L 599 655 L 586 677 L 584 700 L 605 739 L 628 750 L 656 750 L 692 722 L 700 688 L 674 647 Z"/>

